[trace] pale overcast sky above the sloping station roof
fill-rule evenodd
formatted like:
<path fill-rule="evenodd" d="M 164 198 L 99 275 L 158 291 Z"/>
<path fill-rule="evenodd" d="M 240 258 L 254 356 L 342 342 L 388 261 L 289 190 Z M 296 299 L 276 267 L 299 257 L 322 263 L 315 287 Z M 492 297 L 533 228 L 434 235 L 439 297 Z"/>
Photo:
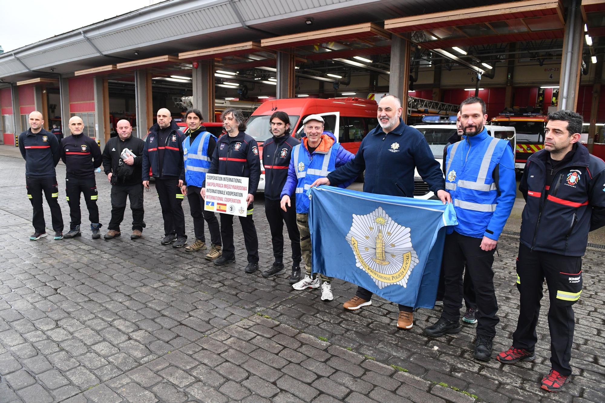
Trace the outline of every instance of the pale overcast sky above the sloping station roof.
<path fill-rule="evenodd" d="M 8 52 L 149 4 L 150 0 L 0 0 L 0 46 Z"/>

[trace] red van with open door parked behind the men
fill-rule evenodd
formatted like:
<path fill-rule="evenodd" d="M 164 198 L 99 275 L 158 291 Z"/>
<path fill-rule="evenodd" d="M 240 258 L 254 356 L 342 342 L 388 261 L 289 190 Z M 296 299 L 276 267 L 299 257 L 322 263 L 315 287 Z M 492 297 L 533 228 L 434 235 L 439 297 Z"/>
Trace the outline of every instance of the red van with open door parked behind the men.
<path fill-rule="evenodd" d="M 271 125 L 269 119 L 275 111 L 284 111 L 290 117 L 292 136 L 300 139 L 302 121 L 310 114 L 324 118 L 324 129 L 331 131 L 338 142 L 348 151 L 355 154 L 361 140 L 371 129 L 378 126 L 376 114 L 378 104 L 373 99 L 364 98 L 287 98 L 264 102 L 252 113 L 246 123 L 246 133 L 257 140 L 259 155 L 263 156 L 262 145 L 270 139 Z M 264 191 L 264 168 L 261 160 L 261 180 L 258 191 Z"/>

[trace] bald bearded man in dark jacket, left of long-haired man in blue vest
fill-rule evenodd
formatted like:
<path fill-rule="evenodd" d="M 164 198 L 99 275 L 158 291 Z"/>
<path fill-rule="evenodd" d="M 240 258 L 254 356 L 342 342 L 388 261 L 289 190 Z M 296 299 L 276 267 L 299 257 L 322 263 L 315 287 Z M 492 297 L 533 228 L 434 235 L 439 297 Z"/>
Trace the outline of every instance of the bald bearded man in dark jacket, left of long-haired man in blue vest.
<path fill-rule="evenodd" d="M 183 213 L 183 192 L 185 162 L 183 161 L 183 140 L 185 136 L 172 120 L 170 111 L 157 111 L 157 123 L 149 128 L 143 147 L 143 186 L 149 189 L 149 177 L 155 178 L 155 190 L 160 198 L 164 218 L 163 245 L 183 247 L 185 235 L 185 214 Z"/>

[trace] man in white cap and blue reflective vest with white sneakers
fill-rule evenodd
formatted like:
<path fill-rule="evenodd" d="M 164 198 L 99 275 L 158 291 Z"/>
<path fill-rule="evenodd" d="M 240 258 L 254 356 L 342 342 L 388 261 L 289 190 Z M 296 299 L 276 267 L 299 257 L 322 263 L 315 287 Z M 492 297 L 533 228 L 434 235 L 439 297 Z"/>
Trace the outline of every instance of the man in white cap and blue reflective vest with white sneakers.
<path fill-rule="evenodd" d="M 292 284 L 295 290 L 319 287 L 319 277 L 311 274 L 311 234 L 309 232 L 309 189 L 316 179 L 334 171 L 353 159 L 353 154 L 327 134 L 324 134 L 324 118 L 309 115 L 302 122 L 307 135 L 302 143 L 292 148 L 292 159 L 288 168 L 288 177 L 281 191 L 281 209 L 291 207 L 290 196 L 296 194 L 296 225 L 301 234 L 302 260 L 306 275 L 298 283 Z M 350 184 L 351 182 L 348 182 Z M 347 185 L 341 185 L 346 188 Z M 321 300 L 332 301 L 332 278 L 321 275 Z"/>

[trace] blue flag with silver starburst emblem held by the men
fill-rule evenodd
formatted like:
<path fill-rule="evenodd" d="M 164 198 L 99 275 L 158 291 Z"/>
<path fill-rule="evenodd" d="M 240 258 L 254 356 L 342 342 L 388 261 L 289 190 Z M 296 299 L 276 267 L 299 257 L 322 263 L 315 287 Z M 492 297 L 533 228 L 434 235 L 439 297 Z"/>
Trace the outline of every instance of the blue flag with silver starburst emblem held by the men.
<path fill-rule="evenodd" d="M 405 306 L 433 308 L 454 206 L 319 186 L 310 191 L 313 272 Z"/>

